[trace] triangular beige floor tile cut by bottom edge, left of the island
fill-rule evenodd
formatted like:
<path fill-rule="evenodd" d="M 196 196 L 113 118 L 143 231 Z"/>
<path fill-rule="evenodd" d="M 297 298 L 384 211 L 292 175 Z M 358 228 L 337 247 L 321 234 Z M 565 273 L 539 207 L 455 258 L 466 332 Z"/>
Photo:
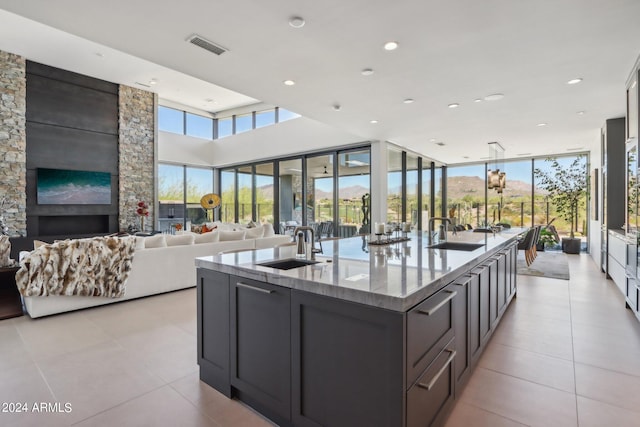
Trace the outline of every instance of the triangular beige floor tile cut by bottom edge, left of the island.
<path fill-rule="evenodd" d="M 169 386 L 129 400 L 76 424 L 78 427 L 219 427 Z"/>

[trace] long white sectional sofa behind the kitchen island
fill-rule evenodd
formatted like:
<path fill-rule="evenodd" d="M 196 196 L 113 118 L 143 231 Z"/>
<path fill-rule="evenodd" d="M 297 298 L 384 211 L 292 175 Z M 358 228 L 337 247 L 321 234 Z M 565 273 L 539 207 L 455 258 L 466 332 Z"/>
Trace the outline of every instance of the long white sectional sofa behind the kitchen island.
<path fill-rule="evenodd" d="M 139 237 L 123 297 L 25 297 L 24 305 L 29 316 L 36 318 L 194 287 L 196 286 L 194 260 L 197 257 L 238 249 L 265 249 L 291 241 L 290 236 L 270 233 L 268 237 L 242 239 L 240 237 L 246 237 L 246 231 Z"/>

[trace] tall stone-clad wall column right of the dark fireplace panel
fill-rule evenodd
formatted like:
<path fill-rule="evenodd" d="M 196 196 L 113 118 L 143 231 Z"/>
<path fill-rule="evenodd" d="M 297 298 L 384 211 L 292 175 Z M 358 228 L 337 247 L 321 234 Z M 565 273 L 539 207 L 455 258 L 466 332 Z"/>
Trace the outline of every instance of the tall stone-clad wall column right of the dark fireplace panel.
<path fill-rule="evenodd" d="M 144 201 L 149 216 L 145 231 L 153 230 L 155 218 L 155 116 L 154 94 L 120 85 L 119 97 L 119 162 L 120 162 L 120 230 L 130 224 L 140 227 L 136 205 Z"/>

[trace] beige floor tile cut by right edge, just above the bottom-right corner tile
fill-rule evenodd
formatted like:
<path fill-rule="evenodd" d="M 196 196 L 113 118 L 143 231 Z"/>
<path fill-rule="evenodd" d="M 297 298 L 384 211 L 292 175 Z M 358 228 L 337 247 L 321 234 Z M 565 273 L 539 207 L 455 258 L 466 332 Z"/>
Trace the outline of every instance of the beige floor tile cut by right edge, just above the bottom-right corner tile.
<path fill-rule="evenodd" d="M 576 390 L 593 400 L 632 411 L 640 409 L 640 377 L 576 363 Z"/>

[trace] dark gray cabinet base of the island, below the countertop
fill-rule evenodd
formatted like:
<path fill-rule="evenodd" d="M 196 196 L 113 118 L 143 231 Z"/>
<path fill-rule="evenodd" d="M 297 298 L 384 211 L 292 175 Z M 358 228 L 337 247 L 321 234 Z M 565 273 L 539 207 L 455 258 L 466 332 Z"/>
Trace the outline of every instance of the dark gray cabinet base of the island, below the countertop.
<path fill-rule="evenodd" d="M 442 425 L 515 295 L 516 256 L 509 241 L 406 311 L 201 266 L 200 378 L 281 426 Z"/>

